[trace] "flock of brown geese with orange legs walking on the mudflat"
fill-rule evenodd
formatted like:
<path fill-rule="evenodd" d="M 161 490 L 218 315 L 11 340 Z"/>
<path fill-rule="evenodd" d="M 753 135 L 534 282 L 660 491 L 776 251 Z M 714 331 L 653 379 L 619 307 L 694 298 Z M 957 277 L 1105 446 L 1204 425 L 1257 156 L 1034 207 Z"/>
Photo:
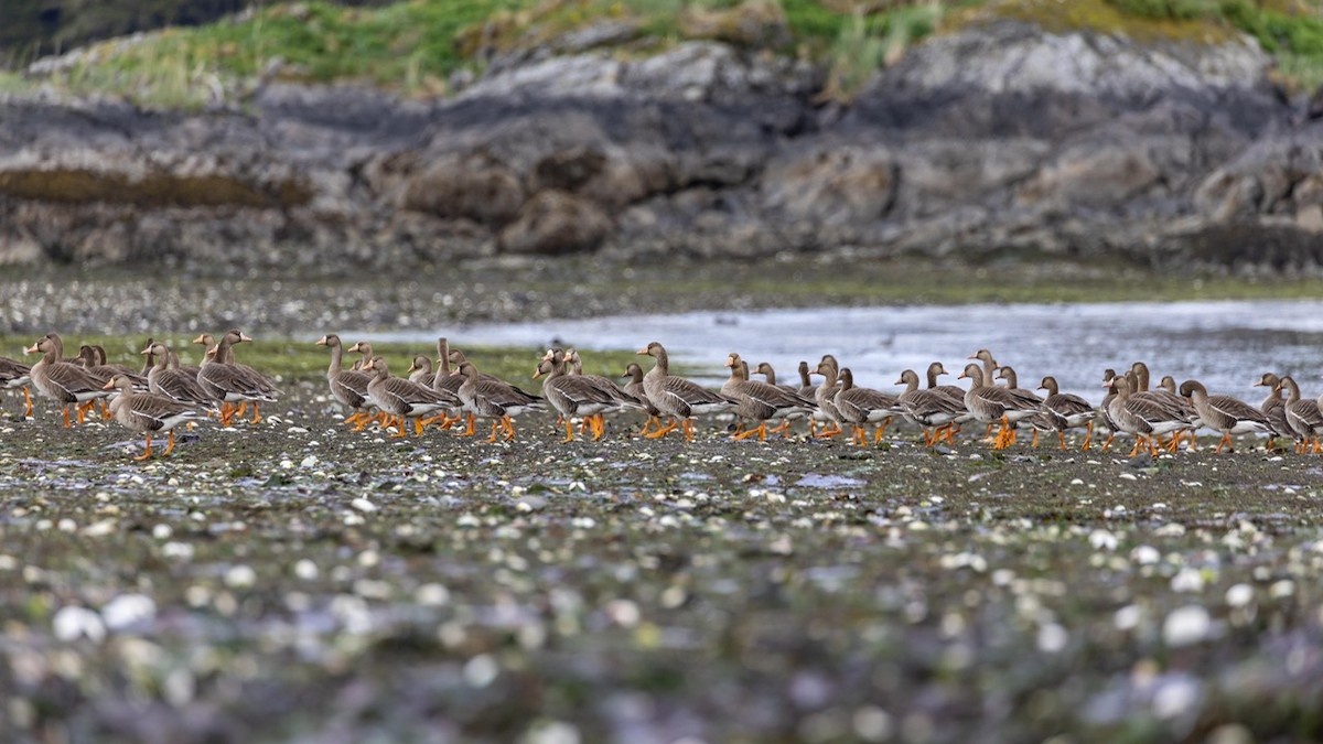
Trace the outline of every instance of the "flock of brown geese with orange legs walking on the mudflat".
<path fill-rule="evenodd" d="M 238 330 L 220 339 L 198 336 L 193 343 L 206 347 L 200 367 L 181 367 L 173 351 L 148 340 L 142 349 L 146 363 L 135 371 L 107 364 L 105 351 L 91 346 L 82 347 L 77 359 L 66 360 L 64 342 L 57 334 L 48 334 L 26 349 L 42 355 L 30 368 L 0 357 L 0 387 L 22 391 L 26 417 L 32 417 L 28 388 L 36 388 L 62 408 L 66 428 L 71 426 L 73 416 L 82 422 L 99 402 L 103 417 L 146 434 L 146 449 L 135 458 L 146 459 L 152 454 L 153 434 L 168 434 L 164 454 L 169 454 L 175 428 L 183 424 L 208 417 L 222 426 L 235 420 L 261 422 L 261 405 L 279 400 L 280 391 L 270 377 L 235 361 L 234 346 L 250 340 Z M 917 372 L 906 369 L 896 381 L 904 385 L 898 393 L 855 385 L 851 369 L 840 367 L 832 355 L 823 356 L 812 368 L 800 361 L 800 384 L 783 385 L 777 384 L 770 364 L 758 364 L 753 372 L 765 380 L 753 380 L 749 364 L 738 353 L 730 353 L 725 361 L 729 379 L 720 389 L 709 389 L 671 375 L 665 348 L 652 342 L 638 352 L 654 357 L 651 371 L 644 373 L 640 365 L 630 364 L 622 375 L 628 379 L 624 385 L 583 375 L 582 360 L 573 349 L 548 349 L 533 373 L 534 379 L 542 379 L 540 397 L 479 372 L 445 338 L 437 342 L 435 369 L 427 355 L 417 355 L 407 377 L 392 376 L 386 361 L 365 342 L 345 349 L 337 335 L 328 334 L 316 343 L 331 351 L 327 381 L 331 395 L 351 412 L 345 424 L 356 430 L 376 424 L 393 429 L 396 437 L 406 437 L 410 429 L 422 436 L 429 426 L 451 429 L 458 424 L 464 424 L 463 434 L 472 436 L 476 420 L 484 418 L 492 422 L 488 441 L 508 441 L 516 436 L 515 417 L 550 406 L 560 414 L 565 441 L 574 438 L 576 420 L 583 436 L 599 440 L 606 432 L 606 414 L 638 412 L 647 416 L 639 432 L 646 438 L 680 430 L 685 440 L 692 440 L 696 417 L 724 413 L 737 418 L 736 440 L 785 436 L 792 422 L 806 421 L 811 437 L 835 437 L 849 426 L 853 442 L 864 446 L 869 442 L 868 426 L 875 426 L 872 440 L 880 442 L 886 428 L 900 418 L 921 426 L 927 446 L 954 443 L 962 425 L 984 424 L 984 438 L 995 449 L 1013 445 L 1016 432 L 1024 428 L 1033 432 L 1033 446 L 1040 434 L 1056 434 L 1061 449 L 1066 449 L 1068 430 L 1084 429 L 1081 449 L 1088 450 L 1094 425 L 1101 422 L 1110 432 L 1102 447 L 1109 447 L 1117 434 L 1127 434 L 1135 438 L 1131 455 L 1142 449 L 1152 454 L 1159 447 L 1177 451 L 1181 441 L 1193 450 L 1195 432 L 1200 428 L 1221 434 L 1218 453 L 1233 447 L 1232 437 L 1244 433 L 1266 433 L 1269 447 L 1274 438 L 1283 437 L 1295 441 L 1298 453 L 1323 451 L 1319 443 L 1323 398 L 1302 398 L 1291 377 L 1273 373 L 1256 383 L 1269 389 L 1256 408 L 1230 396 L 1209 395 L 1196 380 L 1177 388 L 1175 379 L 1167 376 L 1150 389 L 1148 367 L 1136 361 L 1123 373 L 1103 372 L 1107 395 L 1095 408 L 1078 396 L 1061 393 L 1052 376 L 1043 377 L 1039 385 L 1045 392 L 1043 397 L 1020 388 L 1015 369 L 998 364 L 987 349 L 970 355 L 971 361 L 958 376 L 970 381 L 968 388 L 938 384 L 947 371 L 934 361 L 927 368 L 927 387 L 921 387 Z M 347 368 L 345 351 L 361 359 Z M 812 375 L 822 381 L 812 383 Z M 251 418 L 247 418 L 249 405 Z M 994 429 L 998 429 L 995 436 Z"/>

